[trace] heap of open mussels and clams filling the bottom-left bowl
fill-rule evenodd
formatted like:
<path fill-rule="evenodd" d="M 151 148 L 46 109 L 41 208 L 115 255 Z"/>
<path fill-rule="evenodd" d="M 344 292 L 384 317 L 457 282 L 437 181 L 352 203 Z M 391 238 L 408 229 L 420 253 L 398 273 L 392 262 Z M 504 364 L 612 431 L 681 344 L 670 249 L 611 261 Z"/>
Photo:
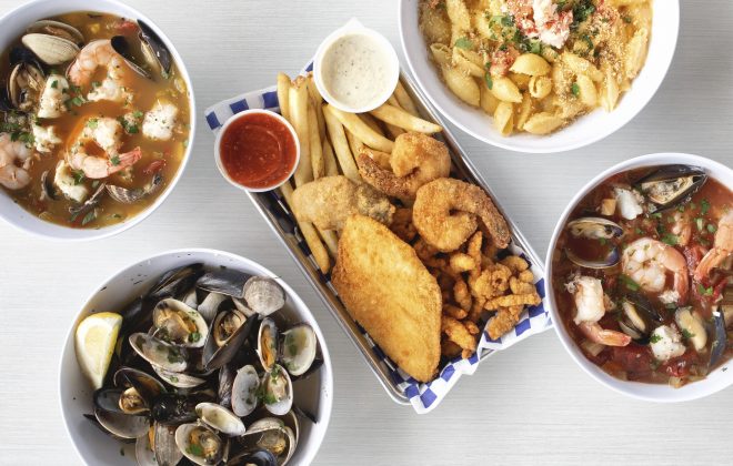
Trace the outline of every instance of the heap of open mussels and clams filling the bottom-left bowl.
<path fill-rule="evenodd" d="M 288 464 L 301 423 L 315 422 L 293 403 L 298 382 L 323 361 L 313 328 L 281 315 L 285 303 L 272 278 L 193 263 L 119 313 L 91 314 L 76 341 L 96 388 L 87 417 L 135 442 L 140 465 Z M 111 351 L 87 364 L 84 322 L 110 317 Z"/>

